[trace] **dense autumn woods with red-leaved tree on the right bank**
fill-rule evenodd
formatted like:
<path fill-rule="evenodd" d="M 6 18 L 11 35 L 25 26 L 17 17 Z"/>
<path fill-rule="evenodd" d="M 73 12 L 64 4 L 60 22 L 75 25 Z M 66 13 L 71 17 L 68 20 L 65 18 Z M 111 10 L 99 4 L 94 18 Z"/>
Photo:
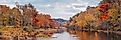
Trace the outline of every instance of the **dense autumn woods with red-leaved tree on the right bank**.
<path fill-rule="evenodd" d="M 77 13 L 66 23 L 69 28 L 100 30 L 121 30 L 121 1 L 103 0 L 97 7 L 88 6 L 86 11 Z"/>

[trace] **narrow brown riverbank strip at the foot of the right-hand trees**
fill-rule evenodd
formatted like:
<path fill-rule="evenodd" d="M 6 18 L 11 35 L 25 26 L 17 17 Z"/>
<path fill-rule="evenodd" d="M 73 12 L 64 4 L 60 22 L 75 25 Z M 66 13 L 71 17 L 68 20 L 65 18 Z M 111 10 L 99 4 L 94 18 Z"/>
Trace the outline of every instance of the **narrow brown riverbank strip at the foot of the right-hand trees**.
<path fill-rule="evenodd" d="M 121 35 L 121 31 L 112 31 L 112 30 L 94 30 L 94 29 L 81 29 L 81 30 L 71 30 L 71 29 L 68 29 L 68 32 L 70 34 L 76 34 L 78 31 L 80 32 L 103 32 L 103 33 L 116 33 L 118 35 Z"/>

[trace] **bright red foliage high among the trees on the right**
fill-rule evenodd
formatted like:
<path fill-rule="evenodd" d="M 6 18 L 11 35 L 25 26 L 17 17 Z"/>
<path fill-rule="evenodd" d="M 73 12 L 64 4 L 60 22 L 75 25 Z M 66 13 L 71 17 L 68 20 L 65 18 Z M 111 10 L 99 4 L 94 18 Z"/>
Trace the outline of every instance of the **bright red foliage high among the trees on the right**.
<path fill-rule="evenodd" d="M 110 6 L 111 6 L 111 3 L 108 3 L 108 2 L 107 3 L 103 3 L 103 4 L 101 4 L 101 5 L 98 6 L 97 9 L 100 12 L 102 12 L 102 15 L 100 16 L 101 20 L 105 20 L 105 19 L 108 18 L 109 12 L 107 10 L 110 8 Z"/>

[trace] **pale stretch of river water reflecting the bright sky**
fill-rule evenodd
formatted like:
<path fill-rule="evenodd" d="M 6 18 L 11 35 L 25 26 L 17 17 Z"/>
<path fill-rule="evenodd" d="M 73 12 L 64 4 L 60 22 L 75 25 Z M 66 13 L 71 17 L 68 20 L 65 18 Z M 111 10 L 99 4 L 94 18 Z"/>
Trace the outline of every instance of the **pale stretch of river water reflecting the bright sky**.
<path fill-rule="evenodd" d="M 56 33 L 50 38 L 38 38 L 38 40 L 77 40 L 77 37 L 73 37 L 68 32 Z"/>

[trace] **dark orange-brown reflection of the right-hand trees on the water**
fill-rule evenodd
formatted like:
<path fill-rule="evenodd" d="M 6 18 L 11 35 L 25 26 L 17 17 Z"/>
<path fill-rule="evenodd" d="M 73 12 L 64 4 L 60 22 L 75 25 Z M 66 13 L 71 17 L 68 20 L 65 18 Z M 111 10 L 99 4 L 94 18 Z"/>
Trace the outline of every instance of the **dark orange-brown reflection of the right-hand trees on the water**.
<path fill-rule="evenodd" d="M 103 32 L 78 32 L 78 40 L 121 40 L 121 35 Z"/>

